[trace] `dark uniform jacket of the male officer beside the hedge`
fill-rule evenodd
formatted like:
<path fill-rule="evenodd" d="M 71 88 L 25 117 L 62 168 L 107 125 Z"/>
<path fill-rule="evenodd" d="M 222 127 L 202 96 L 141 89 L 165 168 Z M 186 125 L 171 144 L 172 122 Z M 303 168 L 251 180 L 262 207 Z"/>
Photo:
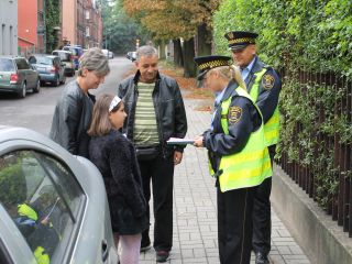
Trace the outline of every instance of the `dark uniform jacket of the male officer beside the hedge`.
<path fill-rule="evenodd" d="M 255 80 L 254 74 L 261 72 L 264 66 L 267 67 L 267 70 L 260 82 L 258 98 L 255 103 L 263 114 L 264 123 L 266 123 L 277 107 L 278 95 L 282 89 L 282 81 L 277 73 L 272 67 L 266 66 L 258 57 L 255 57 L 253 67 L 244 81 L 250 94 Z M 272 81 L 265 81 L 265 77 L 268 77 L 268 80 Z"/>

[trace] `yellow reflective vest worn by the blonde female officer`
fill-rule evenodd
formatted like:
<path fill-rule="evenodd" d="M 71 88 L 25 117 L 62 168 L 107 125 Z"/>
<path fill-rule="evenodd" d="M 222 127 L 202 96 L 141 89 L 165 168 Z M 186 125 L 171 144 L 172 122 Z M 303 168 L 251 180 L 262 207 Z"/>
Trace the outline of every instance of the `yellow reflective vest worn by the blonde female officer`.
<path fill-rule="evenodd" d="M 239 96 L 250 99 L 250 95 L 241 87 L 237 88 Z M 221 103 L 221 127 L 229 134 L 228 113 L 232 97 Z M 255 106 L 253 103 L 253 106 Z M 257 107 L 255 106 L 257 109 Z M 258 109 L 257 109 L 258 111 Z M 261 111 L 258 111 L 261 112 Z M 240 153 L 222 156 L 219 170 L 220 189 L 222 193 L 232 189 L 253 187 L 260 185 L 265 178 L 272 176 L 272 165 L 264 139 L 264 127 L 261 125 L 252 132 L 250 139 Z"/>

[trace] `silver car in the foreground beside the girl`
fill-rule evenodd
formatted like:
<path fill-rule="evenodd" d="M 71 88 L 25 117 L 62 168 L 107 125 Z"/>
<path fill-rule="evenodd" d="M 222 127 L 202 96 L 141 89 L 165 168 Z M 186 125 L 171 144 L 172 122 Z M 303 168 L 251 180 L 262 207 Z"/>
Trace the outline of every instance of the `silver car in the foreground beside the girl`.
<path fill-rule="evenodd" d="M 47 136 L 0 125 L 0 263 L 119 257 L 98 168 Z"/>

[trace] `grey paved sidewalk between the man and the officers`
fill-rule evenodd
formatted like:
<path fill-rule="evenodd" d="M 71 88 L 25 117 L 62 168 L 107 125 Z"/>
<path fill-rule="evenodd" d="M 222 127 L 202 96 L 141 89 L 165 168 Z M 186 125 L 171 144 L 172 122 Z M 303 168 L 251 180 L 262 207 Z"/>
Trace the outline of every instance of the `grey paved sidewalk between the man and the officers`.
<path fill-rule="evenodd" d="M 200 100 L 185 99 L 188 118 L 187 138 L 201 134 L 210 123 L 210 113 L 197 111 Z M 175 168 L 174 178 L 174 245 L 167 263 L 218 264 L 217 198 L 210 177 L 207 151 L 188 145 L 184 160 Z M 152 206 L 152 204 L 151 204 Z M 152 223 L 154 220 L 152 219 Z M 153 224 L 151 226 L 153 242 Z M 275 264 L 309 264 L 309 260 L 272 208 L 272 251 Z M 141 264 L 155 263 L 155 252 L 142 253 Z M 252 262 L 254 255 L 252 254 Z"/>

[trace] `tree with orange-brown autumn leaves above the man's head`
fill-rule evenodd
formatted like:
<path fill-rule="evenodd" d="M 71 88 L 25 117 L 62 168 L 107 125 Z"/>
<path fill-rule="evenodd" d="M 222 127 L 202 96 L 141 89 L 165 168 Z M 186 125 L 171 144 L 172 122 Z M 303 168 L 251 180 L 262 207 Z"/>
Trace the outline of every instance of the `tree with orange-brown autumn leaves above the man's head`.
<path fill-rule="evenodd" d="M 123 0 L 127 13 L 153 32 L 154 40 L 175 40 L 176 44 L 178 38 L 184 40 L 187 56 L 175 61 L 184 62 L 185 76 L 196 75 L 194 37 L 199 25 L 210 25 L 211 13 L 218 4 L 219 0 Z M 174 54 L 180 55 L 179 51 Z"/>

